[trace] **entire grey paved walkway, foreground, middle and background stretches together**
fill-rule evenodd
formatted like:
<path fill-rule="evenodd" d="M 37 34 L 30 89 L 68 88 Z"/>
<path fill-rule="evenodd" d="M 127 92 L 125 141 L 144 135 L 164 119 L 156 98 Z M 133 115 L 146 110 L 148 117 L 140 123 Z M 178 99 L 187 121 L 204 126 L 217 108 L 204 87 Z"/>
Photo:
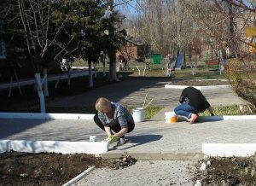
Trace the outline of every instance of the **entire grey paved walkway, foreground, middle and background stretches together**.
<path fill-rule="evenodd" d="M 93 105 L 99 96 L 106 96 L 114 102 L 139 107 L 148 93 L 149 98 L 154 98 L 154 105 L 165 107 L 153 119 L 137 123 L 135 130 L 126 135 L 129 142 L 120 147 L 111 146 L 104 154 L 110 158 L 132 154 L 139 160 L 136 165 L 115 171 L 95 169 L 75 185 L 194 185 L 191 170 L 201 155 L 201 143 L 256 142 L 256 120 L 166 124 L 164 113 L 177 106 L 182 90 L 165 89 L 164 84 L 159 80 L 129 80 L 49 103 L 85 106 Z M 203 93 L 212 105 L 241 103 L 229 88 Z M 96 135 L 96 141 L 102 141 L 106 137 L 88 120 L 0 119 L 0 124 L 0 139 L 89 141 L 90 135 Z"/>

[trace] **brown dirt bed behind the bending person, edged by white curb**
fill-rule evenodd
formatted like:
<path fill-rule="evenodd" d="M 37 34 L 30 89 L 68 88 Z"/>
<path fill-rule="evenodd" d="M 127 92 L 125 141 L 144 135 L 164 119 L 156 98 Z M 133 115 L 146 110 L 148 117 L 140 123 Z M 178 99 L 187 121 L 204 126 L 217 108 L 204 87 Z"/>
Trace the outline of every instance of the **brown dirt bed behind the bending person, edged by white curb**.
<path fill-rule="evenodd" d="M 197 79 L 189 79 L 189 80 L 175 80 L 170 84 L 173 85 L 187 85 L 187 86 L 212 86 L 212 85 L 226 85 L 229 84 L 228 81 L 222 80 L 197 80 Z"/>

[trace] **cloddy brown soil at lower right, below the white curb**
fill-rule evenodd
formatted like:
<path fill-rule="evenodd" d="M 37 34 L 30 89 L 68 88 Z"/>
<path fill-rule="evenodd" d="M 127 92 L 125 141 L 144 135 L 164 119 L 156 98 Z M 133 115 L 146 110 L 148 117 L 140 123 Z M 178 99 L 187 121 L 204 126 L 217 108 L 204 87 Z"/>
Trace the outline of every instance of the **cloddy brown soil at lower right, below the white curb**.
<path fill-rule="evenodd" d="M 206 171 L 201 171 L 201 164 L 207 165 Z M 200 161 L 196 166 L 195 180 L 201 180 L 202 185 L 255 185 L 256 156 L 250 158 L 210 158 Z"/>

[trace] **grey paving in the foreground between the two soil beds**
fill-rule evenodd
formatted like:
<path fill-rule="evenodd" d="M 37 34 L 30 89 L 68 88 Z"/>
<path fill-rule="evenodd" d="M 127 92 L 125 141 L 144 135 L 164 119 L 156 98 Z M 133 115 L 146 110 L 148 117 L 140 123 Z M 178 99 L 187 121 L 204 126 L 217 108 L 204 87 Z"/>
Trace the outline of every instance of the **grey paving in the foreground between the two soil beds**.
<path fill-rule="evenodd" d="M 74 185 L 138 186 L 138 185 L 194 185 L 195 161 L 154 160 L 138 161 L 135 165 L 121 170 L 106 168 L 91 171 Z"/>

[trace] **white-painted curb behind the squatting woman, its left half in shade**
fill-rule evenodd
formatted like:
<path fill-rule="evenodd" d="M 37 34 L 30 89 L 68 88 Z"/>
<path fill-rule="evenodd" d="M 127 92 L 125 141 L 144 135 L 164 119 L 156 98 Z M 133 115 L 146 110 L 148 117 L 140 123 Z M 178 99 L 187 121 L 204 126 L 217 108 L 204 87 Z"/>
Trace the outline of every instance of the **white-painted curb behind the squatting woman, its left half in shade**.
<path fill-rule="evenodd" d="M 82 113 L 0 113 L 0 119 L 90 119 L 95 114 Z"/>

